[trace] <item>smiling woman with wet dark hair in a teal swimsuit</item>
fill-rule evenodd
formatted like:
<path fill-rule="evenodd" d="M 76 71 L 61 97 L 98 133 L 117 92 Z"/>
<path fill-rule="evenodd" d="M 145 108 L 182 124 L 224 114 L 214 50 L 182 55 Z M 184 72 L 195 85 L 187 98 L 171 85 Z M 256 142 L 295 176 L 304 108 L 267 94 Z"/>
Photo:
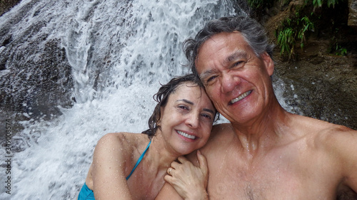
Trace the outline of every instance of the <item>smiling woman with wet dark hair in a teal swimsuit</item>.
<path fill-rule="evenodd" d="M 146 135 L 118 132 L 99 140 L 80 200 L 155 199 L 171 162 L 206 144 L 216 109 L 194 75 L 170 80 L 154 99 L 158 104 Z M 205 158 L 199 152 L 197 156 L 205 168 Z M 201 178 L 207 179 L 207 171 Z"/>

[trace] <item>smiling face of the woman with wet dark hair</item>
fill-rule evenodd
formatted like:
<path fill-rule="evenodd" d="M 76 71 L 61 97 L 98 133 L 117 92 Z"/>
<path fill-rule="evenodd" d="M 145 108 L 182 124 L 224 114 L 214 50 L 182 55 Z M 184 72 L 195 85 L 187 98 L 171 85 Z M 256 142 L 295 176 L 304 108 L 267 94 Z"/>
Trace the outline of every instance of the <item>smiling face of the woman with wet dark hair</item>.
<path fill-rule="evenodd" d="M 211 134 L 215 113 L 203 89 L 193 83 L 178 85 L 166 106 L 161 107 L 159 125 L 166 144 L 178 154 L 203 147 Z"/>

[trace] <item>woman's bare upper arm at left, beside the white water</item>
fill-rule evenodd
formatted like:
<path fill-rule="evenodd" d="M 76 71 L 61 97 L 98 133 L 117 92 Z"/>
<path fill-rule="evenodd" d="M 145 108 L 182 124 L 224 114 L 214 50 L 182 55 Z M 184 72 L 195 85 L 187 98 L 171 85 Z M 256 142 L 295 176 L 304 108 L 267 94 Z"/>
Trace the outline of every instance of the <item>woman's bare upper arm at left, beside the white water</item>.
<path fill-rule="evenodd" d="M 118 133 L 109 133 L 99 140 L 93 156 L 93 185 L 96 199 L 133 199 L 125 177 L 125 154 Z"/>

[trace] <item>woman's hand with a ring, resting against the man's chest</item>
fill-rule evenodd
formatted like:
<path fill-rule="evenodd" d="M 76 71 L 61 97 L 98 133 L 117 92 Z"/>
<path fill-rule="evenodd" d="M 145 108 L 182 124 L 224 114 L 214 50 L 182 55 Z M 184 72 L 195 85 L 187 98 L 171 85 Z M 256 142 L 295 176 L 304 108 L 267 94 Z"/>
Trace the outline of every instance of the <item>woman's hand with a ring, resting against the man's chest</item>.
<path fill-rule="evenodd" d="M 176 189 L 183 199 L 208 199 L 208 167 L 206 157 L 197 151 L 199 166 L 194 166 L 185 157 L 178 157 L 178 162 L 172 162 L 164 177 L 165 181 Z"/>

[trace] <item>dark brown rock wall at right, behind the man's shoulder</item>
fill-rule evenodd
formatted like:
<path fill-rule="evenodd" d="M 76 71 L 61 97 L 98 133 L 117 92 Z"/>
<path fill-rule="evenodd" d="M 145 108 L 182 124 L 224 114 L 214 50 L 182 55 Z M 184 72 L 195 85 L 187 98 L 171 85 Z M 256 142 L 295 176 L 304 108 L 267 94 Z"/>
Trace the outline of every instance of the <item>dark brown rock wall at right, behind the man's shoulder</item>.
<path fill-rule="evenodd" d="M 274 31 L 281 21 L 294 16 L 296 6 L 302 3 L 293 0 L 287 6 L 270 9 L 276 12 L 268 12 L 271 16 L 264 24 L 273 43 L 276 43 Z M 320 25 L 325 28 L 311 34 L 303 49 L 298 45 L 295 47 L 294 60 L 281 56 L 276 46 L 276 75 L 283 80 L 283 97 L 293 112 L 357 130 L 357 29 L 346 26 L 348 15 L 337 16 L 341 23 L 333 26 L 336 19 L 330 17 L 339 11 L 326 10 L 321 14 L 321 21 L 326 24 Z M 337 45 L 347 49 L 346 56 L 331 52 Z"/>

